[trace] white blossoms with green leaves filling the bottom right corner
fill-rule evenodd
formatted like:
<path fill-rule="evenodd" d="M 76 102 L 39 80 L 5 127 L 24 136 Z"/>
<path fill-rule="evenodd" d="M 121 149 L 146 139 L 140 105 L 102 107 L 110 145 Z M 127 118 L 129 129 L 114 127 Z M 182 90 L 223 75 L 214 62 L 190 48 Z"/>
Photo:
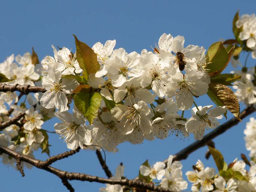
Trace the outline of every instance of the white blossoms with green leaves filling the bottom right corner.
<path fill-rule="evenodd" d="M 193 192 L 199 192 L 200 189 L 202 192 L 252 192 L 256 190 L 256 164 L 250 162 L 250 166 L 249 171 L 246 171 L 245 163 L 235 159 L 227 171 L 221 170 L 216 174 L 214 168 L 204 168 L 203 163 L 198 160 L 193 166 L 194 171 L 188 171 L 186 175 L 193 183 Z"/>

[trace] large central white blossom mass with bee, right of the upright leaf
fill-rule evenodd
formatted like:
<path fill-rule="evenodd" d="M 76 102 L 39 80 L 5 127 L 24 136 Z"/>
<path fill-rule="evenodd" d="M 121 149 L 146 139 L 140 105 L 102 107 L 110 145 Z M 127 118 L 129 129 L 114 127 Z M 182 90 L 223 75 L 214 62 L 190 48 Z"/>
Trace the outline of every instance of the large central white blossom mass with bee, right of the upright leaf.
<path fill-rule="evenodd" d="M 194 98 L 208 91 L 204 47 L 184 47 L 184 37 L 171 34 L 163 34 L 153 52 L 126 53 L 123 48 L 114 49 L 115 44 L 109 40 L 92 48 L 101 68 L 88 76 L 88 84 L 100 90 L 105 102 L 115 104 L 109 112 L 102 110 L 91 125 L 93 141 L 113 151 L 124 141 L 137 144 L 169 134 L 194 133 L 195 139 L 202 139 L 205 128 L 219 125 L 216 119 L 226 112 L 225 107 L 207 113 L 212 105 L 201 112 L 196 106 L 193 117 L 183 116 L 195 104 Z"/>

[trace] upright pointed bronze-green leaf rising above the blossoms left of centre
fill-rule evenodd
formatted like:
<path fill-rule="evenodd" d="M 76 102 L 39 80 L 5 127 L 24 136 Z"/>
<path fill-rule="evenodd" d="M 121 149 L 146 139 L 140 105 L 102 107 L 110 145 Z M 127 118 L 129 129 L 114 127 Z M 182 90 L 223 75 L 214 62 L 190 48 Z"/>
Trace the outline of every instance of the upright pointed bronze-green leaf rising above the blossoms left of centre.
<path fill-rule="evenodd" d="M 88 80 L 88 75 L 90 75 L 90 73 L 96 73 L 100 68 L 97 61 L 97 55 L 94 53 L 91 47 L 84 42 L 79 41 L 75 35 L 74 37 L 76 42 L 76 59 L 81 69 L 84 70 L 84 78 Z"/>

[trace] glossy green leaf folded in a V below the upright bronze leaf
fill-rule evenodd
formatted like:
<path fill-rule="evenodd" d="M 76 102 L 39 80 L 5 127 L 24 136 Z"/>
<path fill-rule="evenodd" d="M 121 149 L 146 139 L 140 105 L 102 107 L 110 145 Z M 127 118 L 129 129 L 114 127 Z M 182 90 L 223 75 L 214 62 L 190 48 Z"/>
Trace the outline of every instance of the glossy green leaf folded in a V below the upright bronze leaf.
<path fill-rule="evenodd" d="M 101 106 L 101 95 L 98 92 L 75 94 L 74 103 L 78 110 L 84 114 L 90 124 L 98 116 L 99 107 Z"/>

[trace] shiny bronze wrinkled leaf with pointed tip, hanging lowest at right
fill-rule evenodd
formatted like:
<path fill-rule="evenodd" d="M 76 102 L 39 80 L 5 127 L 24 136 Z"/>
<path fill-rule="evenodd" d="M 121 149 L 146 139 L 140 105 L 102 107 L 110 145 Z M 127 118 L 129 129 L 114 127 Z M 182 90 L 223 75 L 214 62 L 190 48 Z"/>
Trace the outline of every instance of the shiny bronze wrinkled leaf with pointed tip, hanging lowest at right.
<path fill-rule="evenodd" d="M 212 101 L 218 106 L 227 106 L 228 110 L 233 113 L 233 115 L 241 120 L 238 115 L 240 113 L 240 105 L 238 99 L 234 92 L 222 84 L 210 84 L 209 91 L 207 92 Z"/>

